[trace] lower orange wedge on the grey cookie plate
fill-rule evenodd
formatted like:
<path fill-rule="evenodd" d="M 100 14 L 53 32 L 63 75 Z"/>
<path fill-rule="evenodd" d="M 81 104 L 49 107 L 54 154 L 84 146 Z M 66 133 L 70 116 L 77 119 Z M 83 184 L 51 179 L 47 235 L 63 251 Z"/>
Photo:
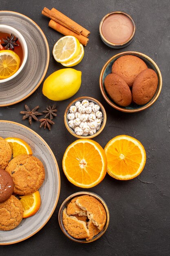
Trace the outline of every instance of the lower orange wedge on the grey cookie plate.
<path fill-rule="evenodd" d="M 39 191 L 30 195 L 21 195 L 20 198 L 20 202 L 24 209 L 23 218 L 33 216 L 40 209 L 41 197 Z"/>

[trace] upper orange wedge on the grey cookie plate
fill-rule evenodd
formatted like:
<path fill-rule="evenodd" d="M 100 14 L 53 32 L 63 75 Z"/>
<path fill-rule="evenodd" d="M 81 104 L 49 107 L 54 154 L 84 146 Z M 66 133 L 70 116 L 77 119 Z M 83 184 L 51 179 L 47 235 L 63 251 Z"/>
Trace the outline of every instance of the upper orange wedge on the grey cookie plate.
<path fill-rule="evenodd" d="M 21 154 L 33 154 L 29 144 L 27 144 L 23 139 L 9 137 L 6 138 L 6 141 L 11 147 L 13 157 Z"/>

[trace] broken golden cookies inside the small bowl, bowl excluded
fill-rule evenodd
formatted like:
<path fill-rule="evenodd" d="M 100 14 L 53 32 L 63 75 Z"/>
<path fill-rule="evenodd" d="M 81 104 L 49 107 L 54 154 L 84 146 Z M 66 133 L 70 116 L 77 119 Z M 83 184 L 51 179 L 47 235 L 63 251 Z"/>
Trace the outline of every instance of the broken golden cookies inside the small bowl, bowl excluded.
<path fill-rule="evenodd" d="M 106 211 L 93 196 L 77 196 L 63 210 L 62 222 L 68 234 L 88 241 L 104 228 Z"/>

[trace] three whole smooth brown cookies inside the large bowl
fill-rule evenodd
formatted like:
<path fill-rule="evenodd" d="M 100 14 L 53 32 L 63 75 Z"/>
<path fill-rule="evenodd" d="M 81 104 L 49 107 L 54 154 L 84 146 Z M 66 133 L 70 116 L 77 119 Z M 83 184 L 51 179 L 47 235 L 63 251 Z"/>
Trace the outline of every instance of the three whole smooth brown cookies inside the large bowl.
<path fill-rule="evenodd" d="M 112 73 L 104 80 L 110 98 L 119 106 L 126 107 L 132 102 L 137 105 L 148 103 L 154 96 L 158 77 L 154 70 L 133 55 L 119 57 L 112 66 Z"/>

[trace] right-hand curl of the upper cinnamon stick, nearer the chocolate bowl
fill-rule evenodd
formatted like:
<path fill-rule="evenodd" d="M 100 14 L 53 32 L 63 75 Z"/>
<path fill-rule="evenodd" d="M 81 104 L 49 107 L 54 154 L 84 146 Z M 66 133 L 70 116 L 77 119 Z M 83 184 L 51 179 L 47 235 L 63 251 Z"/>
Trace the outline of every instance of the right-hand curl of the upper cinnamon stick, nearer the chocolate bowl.
<path fill-rule="evenodd" d="M 65 16 L 63 13 L 61 13 L 60 11 L 58 11 L 55 8 L 51 9 L 52 13 L 55 13 L 56 16 L 54 16 L 52 14 L 52 16 L 56 17 L 56 18 L 61 18 L 63 20 L 66 21 L 66 25 L 71 24 L 70 22 L 72 22 L 73 25 L 77 25 L 77 27 L 79 27 L 80 30 L 82 30 L 82 36 L 88 37 L 90 35 L 90 31 L 88 31 L 87 29 L 85 29 L 84 27 L 80 26 L 79 24 L 77 24 L 75 21 L 71 20 L 70 18 L 68 18 L 67 16 Z"/>

